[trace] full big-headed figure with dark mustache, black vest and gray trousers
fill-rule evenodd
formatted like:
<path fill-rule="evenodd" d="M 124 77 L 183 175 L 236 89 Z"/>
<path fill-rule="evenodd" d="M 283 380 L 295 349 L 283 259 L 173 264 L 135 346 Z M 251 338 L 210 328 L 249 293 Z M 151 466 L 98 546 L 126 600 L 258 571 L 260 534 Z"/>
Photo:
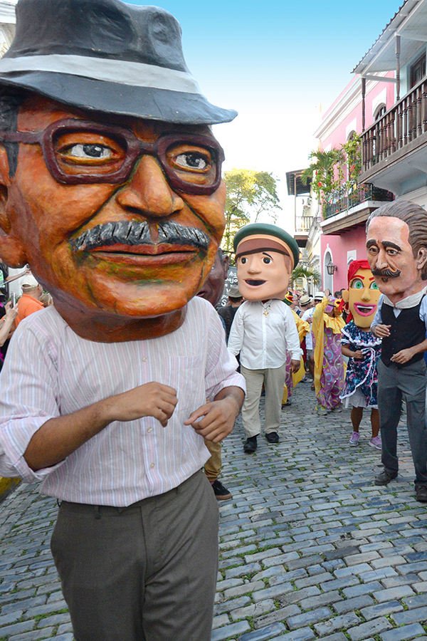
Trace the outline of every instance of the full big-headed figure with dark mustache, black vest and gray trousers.
<path fill-rule="evenodd" d="M 371 324 L 371 332 L 382 338 L 378 409 L 384 470 L 375 484 L 387 485 L 398 474 L 397 427 L 404 398 L 416 499 L 427 502 L 426 210 L 405 201 L 376 209 L 367 221 L 367 255 L 381 291 Z"/>

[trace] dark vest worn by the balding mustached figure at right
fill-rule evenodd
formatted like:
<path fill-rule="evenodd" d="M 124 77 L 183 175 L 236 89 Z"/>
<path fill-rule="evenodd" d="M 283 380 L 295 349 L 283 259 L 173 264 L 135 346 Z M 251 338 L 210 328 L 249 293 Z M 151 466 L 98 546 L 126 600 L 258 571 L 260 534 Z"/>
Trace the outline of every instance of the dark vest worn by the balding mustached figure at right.
<path fill-rule="evenodd" d="M 421 298 L 421 301 L 423 298 Z M 426 339 L 426 325 L 420 318 L 421 301 L 415 307 L 402 309 L 397 318 L 394 316 L 393 307 L 386 305 L 386 303 L 382 304 L 382 322 L 384 325 L 391 325 L 390 335 L 383 338 L 381 344 L 381 360 L 387 367 L 391 363 L 391 356 L 400 352 L 400 350 L 419 345 Z M 395 363 L 395 365 L 398 368 L 406 368 L 406 365 L 416 363 L 423 357 L 423 352 L 419 352 L 411 360 L 408 360 L 408 363 L 403 365 Z"/>

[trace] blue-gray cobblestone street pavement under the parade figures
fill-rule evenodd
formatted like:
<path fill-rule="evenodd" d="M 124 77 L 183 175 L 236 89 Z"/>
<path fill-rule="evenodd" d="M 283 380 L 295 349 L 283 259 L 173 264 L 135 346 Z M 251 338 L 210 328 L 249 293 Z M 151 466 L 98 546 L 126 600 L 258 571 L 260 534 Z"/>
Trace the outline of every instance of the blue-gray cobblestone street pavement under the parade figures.
<path fill-rule="evenodd" d="M 281 442 L 223 448 L 220 570 L 213 641 L 427 641 L 427 506 L 413 496 L 406 429 L 401 474 L 374 486 L 380 452 L 349 410 L 318 417 L 300 383 Z M 367 414 L 365 412 L 365 414 Z M 0 641 L 72 641 L 49 538 L 56 501 L 19 486 L 0 504 Z M 120 641 L 120 640 L 117 640 Z M 165 640 L 174 641 L 174 640 Z"/>

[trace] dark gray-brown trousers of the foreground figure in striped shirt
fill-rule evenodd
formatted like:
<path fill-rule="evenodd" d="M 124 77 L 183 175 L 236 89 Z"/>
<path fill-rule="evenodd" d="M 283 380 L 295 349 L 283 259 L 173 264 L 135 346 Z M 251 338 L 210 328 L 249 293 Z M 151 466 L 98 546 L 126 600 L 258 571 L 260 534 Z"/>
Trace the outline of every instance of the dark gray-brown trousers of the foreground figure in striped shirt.
<path fill-rule="evenodd" d="M 60 505 L 51 548 L 75 641 L 210 641 L 218 503 L 202 471 L 128 508 Z"/>

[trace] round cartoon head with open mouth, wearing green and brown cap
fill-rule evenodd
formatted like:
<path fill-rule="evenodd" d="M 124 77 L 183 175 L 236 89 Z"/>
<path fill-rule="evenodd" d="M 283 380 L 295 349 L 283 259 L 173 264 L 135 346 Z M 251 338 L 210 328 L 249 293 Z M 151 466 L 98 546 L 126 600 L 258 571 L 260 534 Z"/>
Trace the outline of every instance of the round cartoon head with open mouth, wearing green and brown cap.
<path fill-rule="evenodd" d="M 234 237 L 238 288 L 247 301 L 283 300 L 300 250 L 284 229 L 254 223 Z"/>

